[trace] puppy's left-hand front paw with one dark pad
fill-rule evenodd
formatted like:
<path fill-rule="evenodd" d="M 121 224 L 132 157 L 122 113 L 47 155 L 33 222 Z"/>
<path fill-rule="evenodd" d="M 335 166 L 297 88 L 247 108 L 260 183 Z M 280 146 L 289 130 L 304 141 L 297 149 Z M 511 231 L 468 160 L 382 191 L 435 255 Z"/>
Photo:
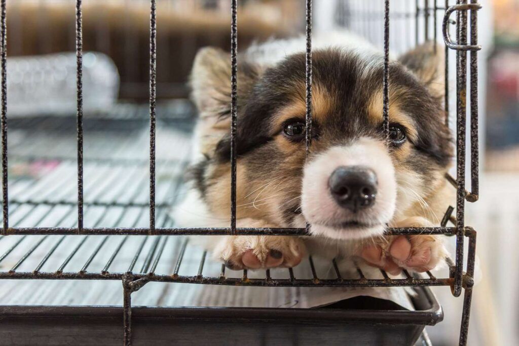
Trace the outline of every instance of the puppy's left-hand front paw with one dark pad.
<path fill-rule="evenodd" d="M 305 254 L 301 239 L 286 236 L 228 236 L 214 252 L 233 270 L 295 267 Z"/>

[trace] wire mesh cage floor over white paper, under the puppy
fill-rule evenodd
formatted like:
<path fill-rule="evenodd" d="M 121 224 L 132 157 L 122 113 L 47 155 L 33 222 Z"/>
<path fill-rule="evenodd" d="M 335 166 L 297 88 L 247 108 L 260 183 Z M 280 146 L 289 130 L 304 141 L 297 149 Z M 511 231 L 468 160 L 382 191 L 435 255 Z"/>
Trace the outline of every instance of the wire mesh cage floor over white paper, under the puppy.
<path fill-rule="evenodd" d="M 157 227 L 174 227 L 170 211 L 185 192 L 183 176 L 193 127 L 188 104 L 158 108 Z M 147 108 L 119 105 L 85 118 L 85 227 L 147 227 L 149 166 Z M 10 223 L 13 227 L 77 227 L 75 122 L 68 117 L 13 119 L 10 148 Z M 11 133 L 10 132 L 10 133 Z M 189 256 L 185 256 L 185 254 Z M 184 260 L 184 258 L 187 258 Z M 254 286 L 409 286 L 450 285 L 431 273 L 345 270 L 341 263 L 308 258 L 306 266 L 266 271 L 233 271 L 212 261 L 186 237 L 169 236 L 8 236 L 0 238 L 0 279 L 122 279 Z M 351 268 L 351 265 L 349 266 Z M 317 269 L 316 269 L 317 268 Z M 319 268 L 327 268 L 324 272 Z M 354 267 L 353 267 L 354 268 Z M 9 280 L 2 303 L 78 303 L 89 299 L 120 303 L 119 290 L 74 281 L 20 286 Z M 106 285 L 120 282 L 114 281 Z M 74 288 L 73 288 L 74 286 Z M 21 289 L 17 289 L 17 287 Z M 88 288 L 90 287 L 90 288 Z M 104 288 L 103 288 L 104 287 Z M 78 289 L 79 294 L 70 295 Z M 15 294 L 12 294 L 15 292 Z M 30 292 L 30 294 L 27 294 Z M 106 294 L 110 292 L 110 294 Z M 164 289 L 147 297 L 163 301 Z M 26 298 L 29 297 L 29 298 Z M 61 297 L 61 298 L 60 298 Z M 151 299 L 151 300 L 150 300 Z M 155 300 L 154 300 L 155 299 Z"/>

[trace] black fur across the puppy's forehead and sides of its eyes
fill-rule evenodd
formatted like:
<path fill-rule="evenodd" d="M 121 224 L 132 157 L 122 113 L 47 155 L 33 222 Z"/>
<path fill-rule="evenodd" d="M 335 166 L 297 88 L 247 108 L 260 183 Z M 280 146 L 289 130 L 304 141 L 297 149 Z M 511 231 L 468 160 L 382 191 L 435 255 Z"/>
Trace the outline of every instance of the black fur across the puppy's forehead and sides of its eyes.
<path fill-rule="evenodd" d="M 333 100 L 330 112 L 313 120 L 319 141 L 329 145 L 344 144 L 361 135 L 380 137 L 382 127 L 374 127 L 366 114 L 372 95 L 381 89 L 383 60 L 381 57 L 360 57 L 340 50 L 313 53 L 313 85 L 318 85 Z M 252 70 L 251 70 L 252 71 Z M 295 54 L 268 68 L 257 81 L 246 102 L 238 108 L 237 155 L 243 156 L 273 139 L 270 124 L 276 112 L 304 98 L 305 56 Z M 390 64 L 391 88 L 403 90 L 399 96 L 401 111 L 414 119 L 418 138 L 413 146 L 439 165 L 446 166 L 452 158 L 452 140 L 443 123 L 443 110 L 438 99 L 429 94 L 425 84 L 398 62 Z M 238 83 L 240 81 L 238 80 Z M 243 99 L 242 99 L 243 100 Z M 390 102 L 395 101 L 391 100 Z M 382 112 L 382 110 L 380 110 Z M 223 116 L 229 116 L 226 113 Z M 295 114 L 304 120 L 304 114 Z M 215 148 L 220 162 L 230 159 L 230 136 Z"/>

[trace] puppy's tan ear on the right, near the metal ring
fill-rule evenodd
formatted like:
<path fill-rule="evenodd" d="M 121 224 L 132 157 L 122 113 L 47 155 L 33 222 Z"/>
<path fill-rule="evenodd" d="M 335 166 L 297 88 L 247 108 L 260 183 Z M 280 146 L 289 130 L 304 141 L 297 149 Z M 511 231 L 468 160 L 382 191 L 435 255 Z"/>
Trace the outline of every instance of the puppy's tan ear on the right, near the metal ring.
<path fill-rule="evenodd" d="M 398 60 L 424 82 L 436 98 L 445 95 L 444 49 L 432 42 L 420 45 L 403 54 Z"/>

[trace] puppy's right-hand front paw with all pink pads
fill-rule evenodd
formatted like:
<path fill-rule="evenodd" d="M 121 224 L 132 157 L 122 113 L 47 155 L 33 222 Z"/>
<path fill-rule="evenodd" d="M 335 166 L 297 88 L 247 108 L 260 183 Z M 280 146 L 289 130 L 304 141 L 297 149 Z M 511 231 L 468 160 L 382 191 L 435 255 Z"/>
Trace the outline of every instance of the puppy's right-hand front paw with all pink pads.
<path fill-rule="evenodd" d="M 397 227 L 431 227 L 422 217 L 409 217 L 399 222 Z M 403 269 L 425 272 L 434 269 L 447 255 L 441 236 L 420 234 L 415 236 L 390 236 L 386 242 L 366 246 L 360 256 L 368 264 L 399 274 Z"/>

